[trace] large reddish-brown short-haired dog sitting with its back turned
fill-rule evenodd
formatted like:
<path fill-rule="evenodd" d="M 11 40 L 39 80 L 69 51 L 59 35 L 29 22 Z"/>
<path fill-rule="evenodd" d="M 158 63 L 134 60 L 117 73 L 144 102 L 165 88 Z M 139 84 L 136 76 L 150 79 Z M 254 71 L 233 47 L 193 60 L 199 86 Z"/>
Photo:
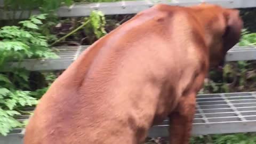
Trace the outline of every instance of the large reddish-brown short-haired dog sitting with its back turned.
<path fill-rule="evenodd" d="M 140 143 L 170 118 L 170 143 L 188 143 L 195 97 L 210 67 L 239 40 L 237 10 L 159 4 L 85 51 L 35 109 L 25 144 Z"/>

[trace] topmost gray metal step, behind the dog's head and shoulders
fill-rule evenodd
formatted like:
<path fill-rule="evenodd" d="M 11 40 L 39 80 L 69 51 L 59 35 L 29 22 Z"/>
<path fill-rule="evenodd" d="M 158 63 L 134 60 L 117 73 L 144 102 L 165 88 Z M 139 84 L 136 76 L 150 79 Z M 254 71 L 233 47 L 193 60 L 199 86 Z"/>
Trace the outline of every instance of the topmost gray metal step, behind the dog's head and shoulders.
<path fill-rule="evenodd" d="M 92 10 L 100 10 L 105 14 L 134 14 L 157 4 L 169 4 L 179 6 L 190 6 L 202 2 L 219 4 L 228 8 L 246 8 L 256 7 L 254 0 L 143 0 L 143 1 L 121 1 L 111 3 L 91 3 L 91 4 L 74 4 L 69 7 L 63 6 L 58 10 L 59 17 L 83 17 L 89 15 Z M 24 18 L 27 18 L 29 12 L 23 12 Z M 32 14 L 38 14 L 38 11 L 33 11 Z M 9 19 L 8 15 L 12 12 L 1 12 L 0 18 Z M 19 18 L 20 12 L 16 13 Z M 11 17 L 13 18 L 13 17 Z"/>

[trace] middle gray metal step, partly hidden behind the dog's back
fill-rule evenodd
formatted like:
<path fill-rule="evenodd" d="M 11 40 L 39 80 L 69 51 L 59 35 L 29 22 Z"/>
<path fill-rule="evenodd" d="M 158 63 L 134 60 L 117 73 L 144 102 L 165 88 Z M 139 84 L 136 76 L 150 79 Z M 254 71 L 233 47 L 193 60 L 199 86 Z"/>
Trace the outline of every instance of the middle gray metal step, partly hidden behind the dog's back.
<path fill-rule="evenodd" d="M 21 63 L 10 62 L 3 71 L 9 71 L 10 67 L 26 68 L 28 70 L 63 70 L 74 61 L 76 58 L 87 48 L 88 45 L 83 46 L 61 46 L 54 47 L 58 50 L 57 54 L 60 58 L 58 59 L 46 59 L 46 60 L 25 60 Z M 228 51 L 226 56 L 227 61 L 238 61 L 238 60 L 256 60 L 256 47 L 250 46 L 235 46 Z"/>

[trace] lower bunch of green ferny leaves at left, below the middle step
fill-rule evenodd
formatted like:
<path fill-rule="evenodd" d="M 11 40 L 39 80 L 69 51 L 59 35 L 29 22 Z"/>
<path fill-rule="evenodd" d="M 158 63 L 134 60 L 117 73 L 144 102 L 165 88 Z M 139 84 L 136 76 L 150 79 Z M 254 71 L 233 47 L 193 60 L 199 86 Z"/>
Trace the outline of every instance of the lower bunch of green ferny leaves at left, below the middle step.
<path fill-rule="evenodd" d="M 0 134 L 6 135 L 12 128 L 23 127 L 25 124 L 14 119 L 20 115 L 21 109 L 27 106 L 35 106 L 37 99 L 47 91 L 48 87 L 36 91 L 25 91 L 29 89 L 28 71 L 14 71 L 12 78 L 0 74 Z M 54 81 L 54 75 L 47 78 L 49 85 Z M 25 122 L 26 123 L 26 122 Z"/>

